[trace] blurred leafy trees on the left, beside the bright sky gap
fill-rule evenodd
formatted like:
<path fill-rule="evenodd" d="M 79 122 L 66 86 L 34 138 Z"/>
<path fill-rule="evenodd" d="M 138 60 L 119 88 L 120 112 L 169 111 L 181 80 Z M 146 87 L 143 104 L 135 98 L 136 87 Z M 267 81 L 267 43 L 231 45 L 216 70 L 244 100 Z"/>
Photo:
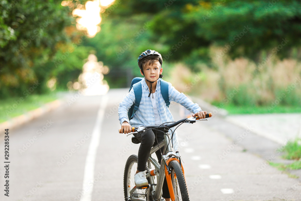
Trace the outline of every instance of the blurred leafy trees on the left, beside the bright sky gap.
<path fill-rule="evenodd" d="M 39 86 L 33 93 L 44 93 L 51 77 L 82 68 L 89 49 L 79 44 L 73 45 L 75 54 L 55 64 L 81 34 L 72 25 L 72 9 L 63 7 L 61 0 L 2 0 L 0 10 L 0 98 L 23 96 L 35 82 Z"/>

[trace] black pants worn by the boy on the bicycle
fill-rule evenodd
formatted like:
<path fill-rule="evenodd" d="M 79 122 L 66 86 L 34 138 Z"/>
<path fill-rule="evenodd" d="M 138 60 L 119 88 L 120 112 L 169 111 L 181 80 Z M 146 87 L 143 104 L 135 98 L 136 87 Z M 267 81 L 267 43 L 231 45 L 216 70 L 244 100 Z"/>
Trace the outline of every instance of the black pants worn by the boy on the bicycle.
<path fill-rule="evenodd" d="M 155 134 L 152 130 L 147 130 L 142 133 L 135 133 L 134 136 L 141 141 L 139 152 L 138 152 L 138 165 L 137 170 L 138 171 L 145 171 L 145 165 L 147 163 L 148 156 L 151 153 L 151 148 L 153 146 L 158 146 L 158 143 L 164 140 L 164 133 L 162 131 L 157 131 L 157 134 Z M 161 152 L 163 152 L 164 147 L 161 148 L 161 151 L 156 151 L 156 155 L 158 158 L 158 162 L 161 164 Z M 163 187 L 162 187 L 162 197 L 164 198 L 170 198 L 169 190 L 167 186 L 166 178 L 164 177 Z"/>

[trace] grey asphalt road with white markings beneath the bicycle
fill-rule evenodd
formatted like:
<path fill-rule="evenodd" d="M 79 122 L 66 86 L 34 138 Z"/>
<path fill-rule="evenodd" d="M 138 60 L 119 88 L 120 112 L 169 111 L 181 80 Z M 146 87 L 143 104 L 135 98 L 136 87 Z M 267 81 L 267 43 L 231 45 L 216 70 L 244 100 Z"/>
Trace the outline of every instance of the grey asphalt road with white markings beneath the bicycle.
<path fill-rule="evenodd" d="M 2 135 L 0 200 L 124 200 L 124 165 L 139 147 L 118 133 L 117 109 L 126 92 L 69 95 L 54 111 L 10 129 L 9 160 Z M 178 104 L 170 109 L 175 120 L 183 118 Z M 301 200 L 301 180 L 267 165 L 279 158 L 272 152 L 278 144 L 219 117 L 183 124 L 178 135 L 190 200 Z"/>

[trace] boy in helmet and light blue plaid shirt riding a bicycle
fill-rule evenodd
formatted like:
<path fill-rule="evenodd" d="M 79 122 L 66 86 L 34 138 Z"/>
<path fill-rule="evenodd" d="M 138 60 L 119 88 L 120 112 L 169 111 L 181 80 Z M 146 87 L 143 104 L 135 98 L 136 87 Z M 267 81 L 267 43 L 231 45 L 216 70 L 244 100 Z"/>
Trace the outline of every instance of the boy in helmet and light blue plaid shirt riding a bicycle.
<path fill-rule="evenodd" d="M 121 132 L 130 133 L 133 127 L 146 126 L 146 125 L 160 125 L 164 122 L 174 121 L 166 103 L 161 94 L 159 77 L 163 77 L 162 71 L 162 57 L 154 50 L 146 50 L 138 57 L 138 66 L 141 75 L 144 79 L 141 80 L 142 85 L 142 98 L 137 111 L 132 119 L 128 118 L 128 110 L 135 103 L 134 89 L 125 96 L 123 101 L 119 104 L 118 115 L 121 124 Z M 198 116 L 200 119 L 205 118 L 206 111 L 202 111 L 198 104 L 191 102 L 183 93 L 178 92 L 175 88 L 168 83 L 169 101 L 177 102 L 183 105 L 186 109 L 194 113 L 192 116 Z M 174 128 L 173 128 L 174 130 Z M 138 167 L 135 174 L 135 185 L 137 187 L 148 185 L 145 177 L 145 166 L 148 156 L 150 155 L 151 148 L 164 140 L 163 133 L 157 132 L 156 135 L 152 130 L 143 133 L 134 134 L 135 137 L 141 140 L 138 152 Z M 172 138 L 173 148 L 178 148 L 178 137 L 174 133 Z M 163 149 L 161 149 L 163 151 Z M 159 163 L 161 162 L 161 152 L 156 152 Z M 162 197 L 170 200 L 169 191 L 164 179 Z"/>

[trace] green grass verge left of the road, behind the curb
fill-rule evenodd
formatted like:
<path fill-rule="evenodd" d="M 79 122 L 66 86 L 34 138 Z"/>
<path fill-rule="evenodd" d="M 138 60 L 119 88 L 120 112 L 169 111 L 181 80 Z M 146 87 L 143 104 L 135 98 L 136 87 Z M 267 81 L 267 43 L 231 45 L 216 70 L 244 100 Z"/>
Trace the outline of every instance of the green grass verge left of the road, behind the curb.
<path fill-rule="evenodd" d="M 57 99 L 55 93 L 29 95 L 0 100 L 0 123 L 36 109 Z"/>

